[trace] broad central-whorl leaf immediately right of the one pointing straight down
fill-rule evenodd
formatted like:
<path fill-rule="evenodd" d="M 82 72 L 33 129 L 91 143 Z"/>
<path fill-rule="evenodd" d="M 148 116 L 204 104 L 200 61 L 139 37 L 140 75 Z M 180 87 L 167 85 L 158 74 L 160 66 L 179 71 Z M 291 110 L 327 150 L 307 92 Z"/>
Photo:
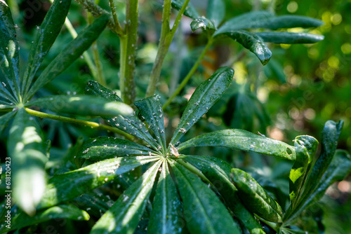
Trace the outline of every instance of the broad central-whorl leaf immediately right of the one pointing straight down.
<path fill-rule="evenodd" d="M 221 233 L 239 233 L 232 216 L 217 195 L 182 165 L 173 160 L 170 160 L 170 164 L 178 181 L 190 233 L 218 233 L 218 230 Z"/>

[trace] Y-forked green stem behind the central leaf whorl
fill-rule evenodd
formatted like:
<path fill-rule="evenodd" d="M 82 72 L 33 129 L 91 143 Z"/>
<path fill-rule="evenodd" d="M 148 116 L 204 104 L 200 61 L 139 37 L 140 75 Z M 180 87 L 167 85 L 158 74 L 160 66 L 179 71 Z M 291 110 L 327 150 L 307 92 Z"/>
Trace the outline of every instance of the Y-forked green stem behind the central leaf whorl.
<path fill-rule="evenodd" d="M 180 19 L 187 8 L 190 0 L 185 0 L 182 8 L 176 17 L 176 21 L 173 24 L 172 29 L 169 28 L 169 17 L 171 14 L 171 0 L 164 1 L 164 11 L 162 13 L 162 27 L 161 27 L 161 37 L 159 40 L 159 48 L 157 50 L 156 60 L 154 66 L 152 67 L 150 75 L 150 83 L 147 86 L 146 97 L 154 95 L 156 91 L 157 83 L 159 82 L 159 76 L 161 74 L 162 64 L 164 63 L 164 57 L 168 52 L 168 48 L 171 45 L 173 36 L 177 31 Z"/>

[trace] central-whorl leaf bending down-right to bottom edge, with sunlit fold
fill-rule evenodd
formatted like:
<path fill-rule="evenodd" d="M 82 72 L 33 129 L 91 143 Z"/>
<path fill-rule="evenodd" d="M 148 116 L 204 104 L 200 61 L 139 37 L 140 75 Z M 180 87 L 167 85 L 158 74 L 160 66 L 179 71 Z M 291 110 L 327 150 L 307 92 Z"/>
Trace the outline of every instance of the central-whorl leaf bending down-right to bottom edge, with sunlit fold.
<path fill-rule="evenodd" d="M 230 167 L 225 161 L 220 158 L 210 156 L 185 156 L 181 155 L 187 162 L 197 167 L 206 178 L 211 181 L 223 196 L 228 207 L 234 212 L 235 216 L 244 224 L 250 233 L 262 234 L 264 233 L 260 223 L 256 221 L 255 217 L 249 212 L 237 197 L 237 188 L 230 181 Z"/>

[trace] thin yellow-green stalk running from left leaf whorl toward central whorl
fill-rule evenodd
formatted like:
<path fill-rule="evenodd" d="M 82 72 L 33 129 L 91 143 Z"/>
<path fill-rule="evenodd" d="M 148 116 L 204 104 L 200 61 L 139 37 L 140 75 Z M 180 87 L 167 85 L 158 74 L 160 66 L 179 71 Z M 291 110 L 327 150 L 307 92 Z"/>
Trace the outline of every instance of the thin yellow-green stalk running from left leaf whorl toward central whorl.
<path fill-rule="evenodd" d="M 114 132 L 114 133 L 117 133 L 119 135 L 123 135 L 127 139 L 133 139 L 133 137 L 131 135 L 128 135 L 126 132 L 122 132 L 118 128 L 112 128 L 111 126 L 108 126 L 108 125 L 103 125 L 103 124 L 95 123 L 95 122 L 91 122 L 91 121 L 81 121 L 79 119 L 68 118 L 68 117 L 64 117 L 64 116 L 56 116 L 56 115 L 53 115 L 50 113 L 44 113 L 41 111 L 34 111 L 32 109 L 29 109 L 29 108 L 25 108 L 25 110 L 29 114 L 31 114 L 32 116 L 37 116 L 40 118 L 49 118 L 49 119 L 52 119 L 55 121 L 62 121 L 62 122 L 66 122 L 66 123 L 75 123 L 75 124 L 84 125 L 84 126 L 91 127 L 91 128 L 99 128 L 99 129 L 103 129 L 103 130 L 108 130 L 110 132 Z"/>

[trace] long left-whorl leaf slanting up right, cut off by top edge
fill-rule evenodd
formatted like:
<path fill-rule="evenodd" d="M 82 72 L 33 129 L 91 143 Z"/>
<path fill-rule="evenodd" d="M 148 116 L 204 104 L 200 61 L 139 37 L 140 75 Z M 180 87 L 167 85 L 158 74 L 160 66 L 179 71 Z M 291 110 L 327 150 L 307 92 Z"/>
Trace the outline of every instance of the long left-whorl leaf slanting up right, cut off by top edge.
<path fill-rule="evenodd" d="M 35 74 L 43 62 L 48 50 L 55 42 L 65 22 L 69 10 L 70 0 L 55 0 L 46 13 L 44 21 L 37 27 L 37 34 L 29 52 L 27 67 L 23 75 L 22 96 L 25 96 L 34 79 Z"/>

